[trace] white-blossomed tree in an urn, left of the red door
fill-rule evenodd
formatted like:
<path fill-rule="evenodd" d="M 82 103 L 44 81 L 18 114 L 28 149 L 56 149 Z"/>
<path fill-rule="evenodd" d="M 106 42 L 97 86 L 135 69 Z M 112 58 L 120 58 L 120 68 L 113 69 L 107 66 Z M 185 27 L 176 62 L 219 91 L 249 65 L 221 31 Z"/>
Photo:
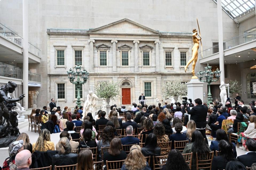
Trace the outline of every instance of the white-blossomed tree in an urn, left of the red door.
<path fill-rule="evenodd" d="M 109 82 L 109 81 L 99 81 L 98 85 L 95 87 L 96 95 L 99 98 L 106 99 L 107 105 L 107 114 L 110 109 L 110 99 L 114 99 L 114 97 L 120 95 L 120 87 L 119 82 Z"/>

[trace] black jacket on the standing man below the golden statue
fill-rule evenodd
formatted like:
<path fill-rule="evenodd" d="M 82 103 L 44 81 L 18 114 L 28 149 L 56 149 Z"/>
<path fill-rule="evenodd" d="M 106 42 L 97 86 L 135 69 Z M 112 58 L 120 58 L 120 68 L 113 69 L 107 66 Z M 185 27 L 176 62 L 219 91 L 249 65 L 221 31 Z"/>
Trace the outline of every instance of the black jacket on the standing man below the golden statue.
<path fill-rule="evenodd" d="M 206 117 L 207 117 L 208 107 L 204 105 L 197 105 L 192 107 L 188 114 L 191 115 L 190 120 L 196 122 L 196 128 L 203 129 L 206 128 Z"/>

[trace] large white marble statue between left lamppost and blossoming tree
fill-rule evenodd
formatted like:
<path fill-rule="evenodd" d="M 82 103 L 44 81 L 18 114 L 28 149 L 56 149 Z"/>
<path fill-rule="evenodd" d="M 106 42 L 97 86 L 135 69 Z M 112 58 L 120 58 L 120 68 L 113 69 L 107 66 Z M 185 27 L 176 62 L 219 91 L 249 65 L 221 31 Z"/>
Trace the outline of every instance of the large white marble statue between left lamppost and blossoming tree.
<path fill-rule="evenodd" d="M 83 117 L 87 115 L 87 113 L 92 113 L 92 117 L 95 117 L 95 106 L 96 106 L 96 99 L 99 99 L 98 96 L 89 90 L 89 94 L 87 95 L 87 100 L 84 103 L 84 110 L 83 110 Z"/>

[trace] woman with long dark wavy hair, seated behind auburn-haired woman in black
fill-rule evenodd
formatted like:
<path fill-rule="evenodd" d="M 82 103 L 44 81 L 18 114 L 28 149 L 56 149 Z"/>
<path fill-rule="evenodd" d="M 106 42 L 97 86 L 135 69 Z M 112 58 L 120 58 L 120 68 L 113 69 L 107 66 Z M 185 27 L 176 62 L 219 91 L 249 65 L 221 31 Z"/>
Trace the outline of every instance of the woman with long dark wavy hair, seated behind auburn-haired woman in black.
<path fill-rule="evenodd" d="M 100 135 L 100 140 L 97 143 L 100 161 L 102 160 L 102 158 L 101 158 L 101 148 L 102 147 L 109 147 L 110 142 L 113 138 L 114 138 L 113 127 L 112 126 L 106 126 L 103 129 L 102 134 Z"/>

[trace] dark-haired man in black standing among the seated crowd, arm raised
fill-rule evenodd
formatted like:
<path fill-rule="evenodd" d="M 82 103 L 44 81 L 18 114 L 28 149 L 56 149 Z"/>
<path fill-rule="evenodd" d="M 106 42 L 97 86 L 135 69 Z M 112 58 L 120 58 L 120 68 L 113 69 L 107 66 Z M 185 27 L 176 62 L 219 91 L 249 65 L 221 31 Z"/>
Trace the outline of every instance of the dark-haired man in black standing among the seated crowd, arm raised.
<path fill-rule="evenodd" d="M 208 107 L 203 105 L 203 102 L 201 99 L 197 98 L 194 100 L 195 106 L 192 107 L 190 111 L 188 111 L 188 114 L 191 115 L 190 120 L 195 121 L 196 123 L 196 130 L 199 130 L 203 137 L 207 139 L 205 135 L 205 128 L 206 128 L 206 117 L 208 113 Z M 208 140 L 206 140 L 208 144 Z"/>

